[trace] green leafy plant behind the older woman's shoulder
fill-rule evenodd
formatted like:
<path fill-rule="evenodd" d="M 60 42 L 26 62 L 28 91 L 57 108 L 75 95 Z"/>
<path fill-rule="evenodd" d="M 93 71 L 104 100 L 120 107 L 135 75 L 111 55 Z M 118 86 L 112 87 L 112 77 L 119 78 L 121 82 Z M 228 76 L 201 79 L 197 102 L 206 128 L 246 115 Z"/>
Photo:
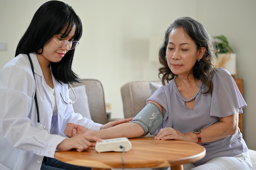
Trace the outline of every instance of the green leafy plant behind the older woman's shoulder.
<path fill-rule="evenodd" d="M 224 35 L 214 36 L 213 40 L 215 41 L 216 49 L 219 49 L 218 53 L 234 53 Z"/>

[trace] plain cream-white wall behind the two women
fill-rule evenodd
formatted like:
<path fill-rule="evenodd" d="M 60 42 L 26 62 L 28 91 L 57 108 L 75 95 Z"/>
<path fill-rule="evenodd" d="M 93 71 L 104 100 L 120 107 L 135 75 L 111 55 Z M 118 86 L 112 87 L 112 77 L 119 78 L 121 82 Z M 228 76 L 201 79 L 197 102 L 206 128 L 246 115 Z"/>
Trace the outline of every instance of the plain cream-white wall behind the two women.
<path fill-rule="evenodd" d="M 0 68 L 14 57 L 16 46 L 35 11 L 47 0 L 0 0 Z M 65 0 L 83 22 L 74 71 L 99 79 L 112 118 L 123 117 L 120 88 L 132 80 L 158 79 L 158 63 L 149 60 L 149 40 L 164 34 L 180 16 L 202 22 L 211 35 L 225 35 L 237 53 L 238 78 L 244 79 L 244 138 L 256 149 L 255 0 Z"/>

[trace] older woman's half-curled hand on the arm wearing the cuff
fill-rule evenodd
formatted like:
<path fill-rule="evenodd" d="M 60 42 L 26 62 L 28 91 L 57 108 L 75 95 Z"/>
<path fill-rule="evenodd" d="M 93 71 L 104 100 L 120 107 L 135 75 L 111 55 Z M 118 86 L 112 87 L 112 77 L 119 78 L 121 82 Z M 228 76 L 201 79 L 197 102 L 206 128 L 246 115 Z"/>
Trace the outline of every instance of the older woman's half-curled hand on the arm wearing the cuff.
<path fill-rule="evenodd" d="M 64 130 L 64 134 L 67 137 L 74 137 L 74 136 L 77 136 L 77 135 L 84 134 L 88 131 L 89 131 L 89 129 L 85 128 L 82 125 L 68 123 L 67 127 Z"/>

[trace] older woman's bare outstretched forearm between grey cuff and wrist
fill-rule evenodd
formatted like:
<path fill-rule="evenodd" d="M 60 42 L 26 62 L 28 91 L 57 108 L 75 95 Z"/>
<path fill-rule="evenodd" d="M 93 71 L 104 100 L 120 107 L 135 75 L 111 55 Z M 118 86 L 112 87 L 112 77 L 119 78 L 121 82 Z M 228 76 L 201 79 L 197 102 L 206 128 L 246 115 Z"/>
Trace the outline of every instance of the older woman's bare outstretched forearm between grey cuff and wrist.
<path fill-rule="evenodd" d="M 101 139 L 111 139 L 118 137 L 134 138 L 144 135 L 144 130 L 135 123 L 123 123 L 111 128 L 93 131 L 96 137 Z"/>

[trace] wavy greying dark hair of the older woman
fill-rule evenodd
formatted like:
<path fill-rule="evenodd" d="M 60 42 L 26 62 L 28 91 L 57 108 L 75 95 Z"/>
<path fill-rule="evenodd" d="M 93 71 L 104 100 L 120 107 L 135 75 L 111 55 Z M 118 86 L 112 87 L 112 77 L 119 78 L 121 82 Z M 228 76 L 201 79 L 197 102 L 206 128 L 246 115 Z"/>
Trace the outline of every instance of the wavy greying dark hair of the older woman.
<path fill-rule="evenodd" d="M 169 34 L 176 28 L 184 29 L 187 35 L 189 35 L 195 42 L 198 50 L 201 47 L 205 47 L 206 51 L 204 56 L 199 62 L 196 62 L 193 67 L 193 76 L 195 79 L 200 79 L 208 87 L 204 93 L 211 92 L 213 90 L 211 75 L 217 68 L 214 41 L 204 26 L 190 17 L 177 18 L 165 32 L 164 41 L 158 53 L 159 62 L 162 65 L 158 69 L 159 78 L 162 80 L 162 84 L 165 85 L 166 82 L 170 82 L 175 77 L 175 74 L 172 73 L 166 61 L 166 48 L 168 45 Z M 160 77 L 161 75 L 162 77 Z"/>

